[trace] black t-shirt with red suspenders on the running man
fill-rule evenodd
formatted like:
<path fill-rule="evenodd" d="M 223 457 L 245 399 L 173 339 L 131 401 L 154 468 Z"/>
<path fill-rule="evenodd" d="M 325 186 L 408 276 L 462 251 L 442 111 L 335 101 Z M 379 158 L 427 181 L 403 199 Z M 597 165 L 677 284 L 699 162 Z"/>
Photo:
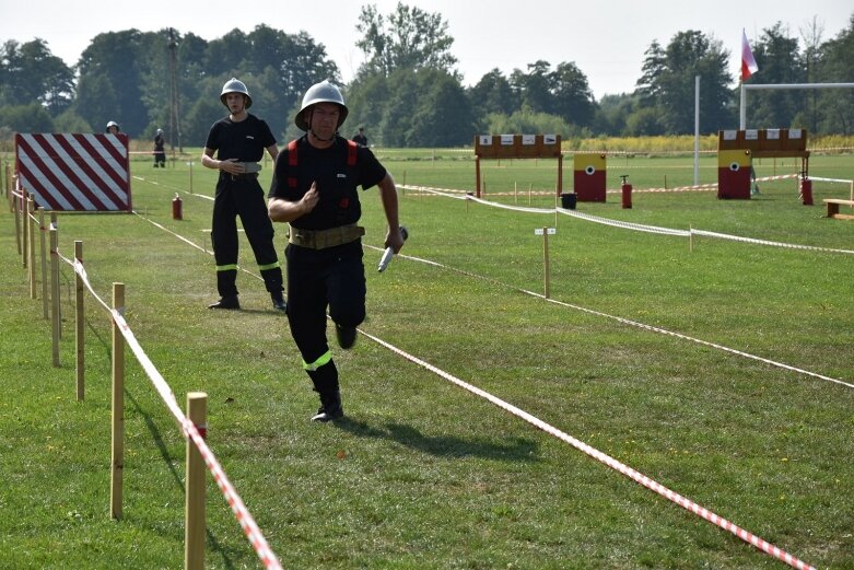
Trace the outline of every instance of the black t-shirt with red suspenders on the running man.
<path fill-rule="evenodd" d="M 299 201 L 317 182 L 320 199 L 314 210 L 291 222 L 301 230 L 327 230 L 355 223 L 362 216 L 359 186 L 363 190 L 375 186 L 386 176 L 386 168 L 371 149 L 356 147 L 355 165 L 348 166 L 348 141 L 336 137 L 328 149 L 316 149 L 307 136 L 296 141 L 296 166 L 289 165 L 285 147 L 276 160 L 276 172 L 270 185 L 270 198 Z"/>

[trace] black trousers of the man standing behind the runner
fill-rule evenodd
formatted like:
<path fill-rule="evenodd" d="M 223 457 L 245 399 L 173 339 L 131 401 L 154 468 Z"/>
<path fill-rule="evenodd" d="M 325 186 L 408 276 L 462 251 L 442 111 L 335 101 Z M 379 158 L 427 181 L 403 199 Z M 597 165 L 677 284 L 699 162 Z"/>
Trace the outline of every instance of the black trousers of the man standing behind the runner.
<path fill-rule="evenodd" d="M 273 228 L 267 213 L 264 190 L 256 177 L 232 179 L 220 175 L 213 199 L 211 243 L 217 261 L 217 290 L 220 296 L 237 294 L 237 216 L 267 290 L 282 292 L 282 268 L 273 245 Z"/>

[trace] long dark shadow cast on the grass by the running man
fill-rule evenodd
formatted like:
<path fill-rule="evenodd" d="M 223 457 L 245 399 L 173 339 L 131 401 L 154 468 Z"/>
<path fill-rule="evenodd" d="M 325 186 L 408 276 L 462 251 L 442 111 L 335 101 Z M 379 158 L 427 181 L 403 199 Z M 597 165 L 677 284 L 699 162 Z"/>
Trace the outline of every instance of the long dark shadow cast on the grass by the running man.
<path fill-rule="evenodd" d="M 483 438 L 461 439 L 451 435 L 424 435 L 411 426 L 389 422 L 375 428 L 364 421 L 342 418 L 334 426 L 360 438 L 386 439 L 421 453 L 438 457 L 484 457 L 488 460 L 533 462 L 537 460 L 537 444 L 516 438 L 508 444 L 498 444 Z"/>

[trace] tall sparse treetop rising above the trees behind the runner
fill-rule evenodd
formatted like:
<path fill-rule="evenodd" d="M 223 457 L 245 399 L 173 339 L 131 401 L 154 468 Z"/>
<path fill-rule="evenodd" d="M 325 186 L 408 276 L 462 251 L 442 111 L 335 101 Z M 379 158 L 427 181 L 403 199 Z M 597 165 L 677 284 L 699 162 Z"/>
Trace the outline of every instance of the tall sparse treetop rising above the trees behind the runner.
<path fill-rule="evenodd" d="M 456 74 L 457 58 L 451 54 L 454 38 L 447 34 L 447 22 L 440 13 L 398 2 L 387 16 L 376 5 L 362 7 L 355 26 L 361 34 L 356 42 L 367 61 L 361 73 L 389 75 L 396 69 L 440 69 Z"/>

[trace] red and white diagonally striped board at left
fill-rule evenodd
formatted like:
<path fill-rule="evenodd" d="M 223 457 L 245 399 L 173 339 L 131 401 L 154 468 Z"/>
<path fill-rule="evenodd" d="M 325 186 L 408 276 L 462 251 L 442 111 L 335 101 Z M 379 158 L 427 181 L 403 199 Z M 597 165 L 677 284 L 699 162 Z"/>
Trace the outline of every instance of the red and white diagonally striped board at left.
<path fill-rule="evenodd" d="M 16 133 L 21 186 L 60 211 L 130 211 L 126 135 Z"/>

